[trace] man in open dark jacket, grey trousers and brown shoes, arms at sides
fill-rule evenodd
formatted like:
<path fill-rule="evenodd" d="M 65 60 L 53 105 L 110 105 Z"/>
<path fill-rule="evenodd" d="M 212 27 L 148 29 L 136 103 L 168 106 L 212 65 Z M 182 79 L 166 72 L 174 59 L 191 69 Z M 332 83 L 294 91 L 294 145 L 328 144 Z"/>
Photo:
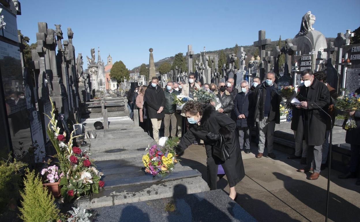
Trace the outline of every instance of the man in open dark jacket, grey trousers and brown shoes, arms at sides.
<path fill-rule="evenodd" d="M 267 139 L 267 152 L 270 158 L 276 158 L 273 153 L 275 123 L 280 123 L 280 96 L 278 85 L 275 83 L 274 72 L 266 73 L 266 81 L 256 86 L 254 91 L 255 112 L 254 119 L 259 128 L 259 145 L 256 158 L 261 158 Z"/>

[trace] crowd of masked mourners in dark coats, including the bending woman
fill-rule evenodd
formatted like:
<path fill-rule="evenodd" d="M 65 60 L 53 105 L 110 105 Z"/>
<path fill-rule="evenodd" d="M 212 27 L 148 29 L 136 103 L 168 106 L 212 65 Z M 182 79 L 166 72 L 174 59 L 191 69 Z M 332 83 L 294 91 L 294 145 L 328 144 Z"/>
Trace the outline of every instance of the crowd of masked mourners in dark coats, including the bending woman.
<path fill-rule="evenodd" d="M 268 72 L 264 81 L 254 77 L 251 86 L 244 80 L 237 89 L 233 78 L 218 85 L 201 85 L 190 73 L 188 83 L 168 81 L 163 89 L 158 85 L 158 78 L 153 77 L 148 86 L 139 86 L 134 92 L 128 92 L 130 117 L 133 109 L 139 109 L 140 126 L 157 142 L 163 123 L 164 136 L 180 137 L 177 147 L 179 155 L 189 145 L 202 143 L 207 155 L 209 187 L 216 189 L 216 175 L 221 165 L 229 182 L 230 197 L 235 199 L 234 186 L 244 177 L 241 151 L 250 153 L 252 131 L 255 131 L 258 148 L 256 158 L 263 157 L 266 149 L 267 157 L 276 158 L 274 131 L 275 124 L 280 123 L 282 98 L 275 78 L 274 72 Z M 198 103 L 194 91 L 200 87 L 212 91 L 221 107 L 215 110 L 218 107 L 215 101 L 210 104 Z M 360 89 L 357 91 L 360 92 Z M 174 99 L 177 95 L 188 96 L 195 101 L 189 101 L 182 110 L 176 110 Z M 301 159 L 305 167 L 297 171 L 312 171 L 309 180 L 318 179 L 320 171 L 327 167 L 329 132 L 334 126 L 334 101 L 337 97 L 336 90 L 327 83 L 324 72 L 313 73 L 306 69 L 301 73 L 301 84 L 298 86 L 300 104 L 291 105 L 295 153 L 288 159 Z M 333 124 L 330 124 L 328 114 Z M 346 142 L 351 144 L 351 168 L 349 173 L 339 176 L 342 179 L 358 177 L 356 172 L 360 160 L 360 112 L 348 114 L 355 119 L 357 127 L 346 132 Z M 231 158 L 225 161 L 212 154 L 212 145 L 221 135 L 226 138 L 230 148 Z M 360 179 L 356 184 L 360 185 Z"/>

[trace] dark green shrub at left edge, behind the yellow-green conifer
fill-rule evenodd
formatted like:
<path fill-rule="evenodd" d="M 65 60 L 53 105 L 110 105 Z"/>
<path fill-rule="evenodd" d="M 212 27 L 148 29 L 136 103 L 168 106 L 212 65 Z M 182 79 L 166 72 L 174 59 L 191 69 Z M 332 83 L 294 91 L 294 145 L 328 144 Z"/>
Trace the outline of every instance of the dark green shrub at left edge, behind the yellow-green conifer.
<path fill-rule="evenodd" d="M 0 213 L 6 211 L 6 205 L 11 199 L 19 199 L 19 185 L 21 183 L 20 170 L 27 166 L 26 163 L 13 161 L 11 154 L 7 160 L 0 160 Z"/>

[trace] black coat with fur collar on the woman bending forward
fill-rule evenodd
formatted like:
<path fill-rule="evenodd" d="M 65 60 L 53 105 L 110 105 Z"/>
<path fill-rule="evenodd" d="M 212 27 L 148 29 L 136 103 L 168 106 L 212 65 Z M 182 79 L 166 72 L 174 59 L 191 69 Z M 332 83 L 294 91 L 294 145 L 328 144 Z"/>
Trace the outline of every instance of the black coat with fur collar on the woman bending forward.
<path fill-rule="evenodd" d="M 215 141 L 210 140 L 206 136 L 209 132 L 215 134 L 220 133 L 225 137 L 226 145 L 230 148 L 230 159 L 221 162 L 221 160 L 215 156 L 212 156 L 212 158 L 218 164 L 222 164 L 224 169 L 228 169 L 228 172 L 225 172 L 228 182 L 234 186 L 244 178 L 245 171 L 241 157 L 239 138 L 236 132 L 236 124 L 230 117 L 215 111 L 212 105 L 204 105 L 200 126 L 190 124 L 189 130 L 181 138 L 178 148 L 185 150 L 193 144 L 195 139 L 203 140 L 206 147 L 212 146 Z"/>

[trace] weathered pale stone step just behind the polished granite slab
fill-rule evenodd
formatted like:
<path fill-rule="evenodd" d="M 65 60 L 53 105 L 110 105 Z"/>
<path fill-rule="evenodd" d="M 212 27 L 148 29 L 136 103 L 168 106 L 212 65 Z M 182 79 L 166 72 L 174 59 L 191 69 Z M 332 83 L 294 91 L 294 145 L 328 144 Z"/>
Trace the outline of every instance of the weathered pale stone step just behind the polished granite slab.
<path fill-rule="evenodd" d="M 181 187 L 181 189 L 177 189 L 177 187 Z M 176 195 L 193 194 L 208 191 L 209 187 L 200 176 L 171 181 L 154 181 L 148 184 L 101 189 L 98 194 L 93 194 L 91 198 L 80 198 L 74 201 L 72 205 L 91 209 L 155 200 L 174 196 L 174 190 Z"/>

